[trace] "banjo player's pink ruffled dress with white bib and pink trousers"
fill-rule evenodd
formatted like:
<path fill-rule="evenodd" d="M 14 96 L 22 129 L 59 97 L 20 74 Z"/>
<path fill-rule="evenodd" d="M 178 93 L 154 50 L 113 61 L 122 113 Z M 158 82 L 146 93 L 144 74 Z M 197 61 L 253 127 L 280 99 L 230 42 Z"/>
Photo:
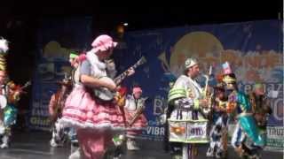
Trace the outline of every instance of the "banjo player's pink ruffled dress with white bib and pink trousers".
<path fill-rule="evenodd" d="M 90 76 L 106 76 L 106 67 L 99 62 L 94 52 L 89 51 L 86 57 L 91 68 Z M 83 158 L 102 158 L 106 147 L 112 143 L 114 133 L 125 130 L 124 121 L 117 105 L 113 102 L 101 102 L 92 95 L 90 87 L 85 87 L 78 81 L 81 72 L 80 68 L 75 72 L 77 82 L 67 97 L 60 124 L 76 128 Z"/>

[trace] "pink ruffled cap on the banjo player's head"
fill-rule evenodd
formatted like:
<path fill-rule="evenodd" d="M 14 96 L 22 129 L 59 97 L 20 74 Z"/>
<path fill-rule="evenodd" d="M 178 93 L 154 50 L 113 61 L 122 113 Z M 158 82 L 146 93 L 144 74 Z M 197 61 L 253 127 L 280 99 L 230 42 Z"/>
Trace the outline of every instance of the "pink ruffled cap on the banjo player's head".
<path fill-rule="evenodd" d="M 92 43 L 91 46 L 93 47 L 94 52 L 98 52 L 99 50 L 105 51 L 107 49 L 111 49 L 116 47 L 117 42 L 113 41 L 113 38 L 107 34 L 99 35 Z"/>

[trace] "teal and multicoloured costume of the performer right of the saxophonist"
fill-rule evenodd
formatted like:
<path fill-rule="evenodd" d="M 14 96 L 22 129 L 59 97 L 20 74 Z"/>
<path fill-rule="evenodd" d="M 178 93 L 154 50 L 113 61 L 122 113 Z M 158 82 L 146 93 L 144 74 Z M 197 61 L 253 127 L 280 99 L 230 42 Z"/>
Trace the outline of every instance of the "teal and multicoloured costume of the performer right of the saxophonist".
<path fill-rule="evenodd" d="M 233 73 L 226 74 L 224 81 L 228 92 L 228 103 L 233 105 L 237 115 L 237 125 L 233 132 L 231 144 L 239 155 L 257 158 L 258 150 L 264 147 L 265 141 L 256 125 L 248 96 L 237 90 L 236 78 Z"/>

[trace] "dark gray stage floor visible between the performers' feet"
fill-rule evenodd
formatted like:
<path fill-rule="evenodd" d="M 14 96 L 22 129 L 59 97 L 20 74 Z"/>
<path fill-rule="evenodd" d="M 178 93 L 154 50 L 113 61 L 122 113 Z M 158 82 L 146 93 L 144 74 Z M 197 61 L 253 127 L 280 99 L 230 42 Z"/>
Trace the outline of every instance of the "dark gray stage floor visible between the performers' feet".
<path fill-rule="evenodd" d="M 14 133 L 10 148 L 0 149 L 0 159 L 66 159 L 70 148 L 51 148 L 49 140 L 51 133 L 32 132 Z M 162 142 L 152 140 L 139 140 L 141 150 L 137 152 L 126 152 L 124 159 L 170 159 L 170 154 L 162 150 Z M 205 157 L 207 145 L 199 148 L 198 159 Z M 238 158 L 232 148 L 229 148 L 229 159 Z M 265 151 L 262 153 L 264 159 L 282 159 L 283 154 Z"/>

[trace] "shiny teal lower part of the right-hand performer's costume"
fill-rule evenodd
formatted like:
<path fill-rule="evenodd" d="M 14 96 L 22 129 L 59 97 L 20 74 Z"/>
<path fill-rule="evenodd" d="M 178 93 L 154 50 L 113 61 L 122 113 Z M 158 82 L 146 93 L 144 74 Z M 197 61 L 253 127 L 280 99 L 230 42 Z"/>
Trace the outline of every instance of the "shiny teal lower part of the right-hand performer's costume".
<path fill-rule="evenodd" d="M 256 125 L 256 120 L 252 115 L 243 115 L 239 117 L 241 129 L 248 135 L 257 146 L 265 145 L 264 136 L 260 134 Z"/>

